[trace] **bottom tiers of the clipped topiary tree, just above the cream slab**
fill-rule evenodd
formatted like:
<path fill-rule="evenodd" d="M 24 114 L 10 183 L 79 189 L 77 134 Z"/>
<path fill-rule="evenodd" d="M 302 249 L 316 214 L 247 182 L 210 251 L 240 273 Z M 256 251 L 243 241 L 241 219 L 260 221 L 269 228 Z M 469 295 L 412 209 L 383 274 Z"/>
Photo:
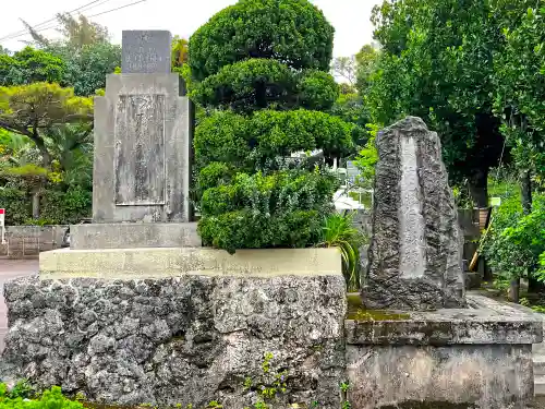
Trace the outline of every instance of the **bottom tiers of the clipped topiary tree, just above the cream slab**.
<path fill-rule="evenodd" d="M 323 171 L 239 173 L 231 184 L 209 189 L 199 224 L 203 242 L 237 249 L 303 248 L 320 239 L 337 179 Z"/>

